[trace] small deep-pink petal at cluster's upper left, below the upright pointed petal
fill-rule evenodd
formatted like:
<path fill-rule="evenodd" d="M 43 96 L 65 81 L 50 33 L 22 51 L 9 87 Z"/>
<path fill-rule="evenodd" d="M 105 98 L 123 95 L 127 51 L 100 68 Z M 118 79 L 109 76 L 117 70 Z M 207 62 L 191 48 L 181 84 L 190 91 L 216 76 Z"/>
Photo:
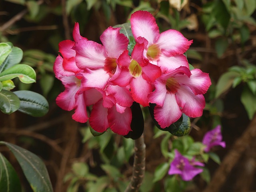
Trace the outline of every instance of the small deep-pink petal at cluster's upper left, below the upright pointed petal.
<path fill-rule="evenodd" d="M 76 56 L 76 52 L 72 49 L 75 45 L 74 41 L 64 40 L 59 43 L 59 52 L 63 58 L 70 58 Z"/>

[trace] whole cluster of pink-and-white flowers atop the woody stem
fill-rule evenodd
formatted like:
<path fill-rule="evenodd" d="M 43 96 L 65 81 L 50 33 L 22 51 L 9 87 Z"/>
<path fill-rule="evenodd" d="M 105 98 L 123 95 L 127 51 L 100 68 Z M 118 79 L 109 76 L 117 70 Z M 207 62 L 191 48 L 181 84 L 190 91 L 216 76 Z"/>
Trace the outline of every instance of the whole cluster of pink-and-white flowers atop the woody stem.
<path fill-rule="evenodd" d="M 61 56 L 54 63 L 56 78 L 65 86 L 56 99 L 58 106 L 74 110 L 74 120 L 89 120 L 97 132 L 110 128 L 121 135 L 131 131 L 133 102 L 144 107 L 156 104 L 154 118 L 162 128 L 182 113 L 201 116 L 203 94 L 211 81 L 207 73 L 189 70 L 184 52 L 192 40 L 176 30 L 160 34 L 155 18 L 146 11 L 134 12 L 130 24 L 136 41 L 131 55 L 121 28 L 107 28 L 98 44 L 80 36 L 75 24 L 74 41 L 60 42 Z M 91 105 L 88 117 L 86 106 Z"/>

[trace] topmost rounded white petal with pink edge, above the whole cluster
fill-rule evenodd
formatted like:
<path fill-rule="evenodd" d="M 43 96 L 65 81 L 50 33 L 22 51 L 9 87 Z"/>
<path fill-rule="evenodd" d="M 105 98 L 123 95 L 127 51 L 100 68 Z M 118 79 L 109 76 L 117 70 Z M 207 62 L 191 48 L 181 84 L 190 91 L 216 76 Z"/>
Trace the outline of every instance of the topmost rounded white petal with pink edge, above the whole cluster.
<path fill-rule="evenodd" d="M 135 40 L 138 37 L 144 37 L 149 44 L 156 42 L 159 36 L 159 28 L 152 14 L 147 11 L 136 11 L 131 15 L 130 22 Z"/>

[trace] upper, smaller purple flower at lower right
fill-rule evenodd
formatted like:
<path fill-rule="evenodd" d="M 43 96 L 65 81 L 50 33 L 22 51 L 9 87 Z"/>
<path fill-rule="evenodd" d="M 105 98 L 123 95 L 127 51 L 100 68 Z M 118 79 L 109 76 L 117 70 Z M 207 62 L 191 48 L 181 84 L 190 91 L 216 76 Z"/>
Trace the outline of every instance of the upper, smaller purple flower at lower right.
<path fill-rule="evenodd" d="M 222 146 L 223 148 L 226 147 L 226 143 L 222 141 L 222 135 L 220 131 L 220 125 L 216 126 L 213 130 L 206 132 L 204 135 L 202 143 L 206 145 L 204 148 L 205 152 L 209 152 L 213 146 Z"/>

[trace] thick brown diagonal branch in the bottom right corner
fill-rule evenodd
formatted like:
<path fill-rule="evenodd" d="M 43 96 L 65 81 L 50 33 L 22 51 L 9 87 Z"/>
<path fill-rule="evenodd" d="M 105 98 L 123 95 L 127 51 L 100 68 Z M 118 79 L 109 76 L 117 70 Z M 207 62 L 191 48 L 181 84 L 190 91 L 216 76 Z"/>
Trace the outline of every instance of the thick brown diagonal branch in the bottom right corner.
<path fill-rule="evenodd" d="M 228 174 L 236 165 L 245 149 L 250 146 L 251 142 L 256 138 L 256 115 L 252 119 L 250 125 L 246 128 L 240 138 L 236 140 L 230 152 L 226 155 L 218 170 L 216 170 L 211 182 L 208 184 L 204 192 L 219 192 L 221 186 L 226 181 Z"/>

